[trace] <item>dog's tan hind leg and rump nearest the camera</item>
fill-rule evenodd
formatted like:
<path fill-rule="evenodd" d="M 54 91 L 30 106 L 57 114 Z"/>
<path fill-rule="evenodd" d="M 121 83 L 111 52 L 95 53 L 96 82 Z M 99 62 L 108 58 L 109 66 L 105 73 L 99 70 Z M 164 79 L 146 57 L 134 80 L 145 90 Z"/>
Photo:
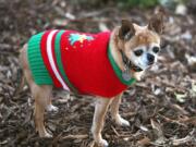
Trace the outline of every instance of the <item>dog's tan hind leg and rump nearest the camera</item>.
<path fill-rule="evenodd" d="M 49 133 L 47 133 L 44 125 L 44 113 L 45 109 L 51 105 L 51 90 L 52 86 L 50 85 L 37 85 L 32 76 L 28 61 L 27 61 L 27 45 L 23 47 L 21 50 L 20 62 L 24 72 L 24 76 L 26 82 L 30 88 L 32 95 L 35 98 L 35 124 L 36 131 L 38 131 L 40 137 L 51 137 Z"/>

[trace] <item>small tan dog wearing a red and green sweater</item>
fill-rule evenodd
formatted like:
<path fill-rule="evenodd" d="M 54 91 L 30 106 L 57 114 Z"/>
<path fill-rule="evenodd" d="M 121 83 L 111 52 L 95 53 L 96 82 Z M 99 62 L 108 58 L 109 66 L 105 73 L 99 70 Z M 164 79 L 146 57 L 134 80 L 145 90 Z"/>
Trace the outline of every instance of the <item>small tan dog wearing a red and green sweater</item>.
<path fill-rule="evenodd" d="M 111 33 L 48 30 L 33 36 L 22 48 L 20 62 L 35 98 L 39 136 L 52 136 L 45 128 L 44 112 L 58 110 L 51 105 L 53 86 L 98 97 L 91 133 L 100 146 L 108 146 L 101 131 L 109 106 L 114 122 L 130 126 L 119 114 L 122 93 L 157 62 L 162 17 L 155 14 L 146 26 L 122 20 Z"/>

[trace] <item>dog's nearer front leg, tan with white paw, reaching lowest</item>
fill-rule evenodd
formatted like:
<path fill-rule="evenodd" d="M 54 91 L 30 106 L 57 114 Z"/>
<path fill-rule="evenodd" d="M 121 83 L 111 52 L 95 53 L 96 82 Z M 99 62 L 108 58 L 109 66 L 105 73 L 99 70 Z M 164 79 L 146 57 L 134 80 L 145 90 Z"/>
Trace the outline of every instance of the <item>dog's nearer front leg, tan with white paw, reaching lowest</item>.
<path fill-rule="evenodd" d="M 107 147 L 108 143 L 101 136 L 101 131 L 105 124 L 105 115 L 111 99 L 98 98 L 95 106 L 94 121 L 91 126 L 91 133 L 97 144 Z"/>

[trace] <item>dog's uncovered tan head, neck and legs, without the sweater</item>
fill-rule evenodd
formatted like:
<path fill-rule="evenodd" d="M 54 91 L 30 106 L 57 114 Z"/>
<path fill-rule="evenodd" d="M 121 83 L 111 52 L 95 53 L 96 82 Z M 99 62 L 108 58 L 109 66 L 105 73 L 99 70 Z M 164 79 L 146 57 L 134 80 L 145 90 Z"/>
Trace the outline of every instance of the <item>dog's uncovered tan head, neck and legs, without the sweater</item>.
<path fill-rule="evenodd" d="M 120 27 L 115 27 L 110 37 L 111 54 L 125 76 L 140 79 L 144 71 L 157 62 L 160 50 L 160 36 L 162 30 L 162 15 L 156 14 L 147 26 L 138 26 L 130 21 L 123 20 Z M 35 124 L 40 137 L 51 137 L 44 125 L 44 112 L 58 110 L 51 105 L 51 85 L 37 85 L 34 82 L 27 60 L 27 45 L 21 50 L 20 62 L 35 98 Z M 139 70 L 138 70 L 139 69 Z M 135 72 L 138 70 L 139 72 Z M 122 94 L 113 98 L 99 97 L 95 107 L 91 133 L 95 142 L 101 146 L 108 146 L 107 140 L 101 136 L 105 124 L 105 115 L 109 109 L 111 117 L 119 125 L 130 126 L 128 121 L 119 114 L 119 106 Z"/>

